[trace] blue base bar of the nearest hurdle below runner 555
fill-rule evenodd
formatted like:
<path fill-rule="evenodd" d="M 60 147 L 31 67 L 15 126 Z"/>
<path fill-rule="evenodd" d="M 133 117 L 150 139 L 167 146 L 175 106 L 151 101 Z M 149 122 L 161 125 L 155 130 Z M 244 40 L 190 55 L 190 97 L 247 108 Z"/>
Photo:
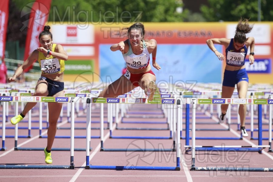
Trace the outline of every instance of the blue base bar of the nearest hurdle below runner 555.
<path fill-rule="evenodd" d="M 54 165 L 0 165 L 0 169 L 74 169 L 74 166 L 54 166 Z"/>

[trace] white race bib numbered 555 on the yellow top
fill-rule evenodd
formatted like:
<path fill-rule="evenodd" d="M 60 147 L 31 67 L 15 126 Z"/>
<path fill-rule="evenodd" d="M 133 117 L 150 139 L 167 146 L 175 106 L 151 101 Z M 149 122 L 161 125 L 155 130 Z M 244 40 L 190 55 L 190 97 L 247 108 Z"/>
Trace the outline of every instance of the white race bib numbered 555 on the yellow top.
<path fill-rule="evenodd" d="M 41 60 L 41 71 L 45 73 L 58 73 L 60 70 L 58 58 Z"/>

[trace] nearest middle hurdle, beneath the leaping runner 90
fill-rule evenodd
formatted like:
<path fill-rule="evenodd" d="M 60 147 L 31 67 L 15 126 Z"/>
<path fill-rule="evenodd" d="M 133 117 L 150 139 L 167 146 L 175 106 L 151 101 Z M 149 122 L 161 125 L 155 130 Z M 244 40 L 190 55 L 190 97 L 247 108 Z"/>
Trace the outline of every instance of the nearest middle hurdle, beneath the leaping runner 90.
<path fill-rule="evenodd" d="M 131 99 L 131 98 L 130 98 Z M 127 100 L 127 99 L 126 99 Z M 162 100 L 162 99 L 161 99 Z M 107 102 L 106 98 L 92 98 L 92 102 L 103 102 L 103 103 L 109 103 Z M 162 101 L 163 102 L 163 101 Z M 181 108 L 180 108 L 180 99 L 177 99 L 177 102 L 174 103 L 177 106 L 177 127 L 180 128 L 181 124 Z M 101 103 L 101 104 L 103 104 Z M 136 102 L 136 103 L 141 103 L 141 102 Z M 142 104 L 150 104 L 153 103 L 151 101 L 145 101 Z M 88 114 L 87 114 L 88 115 Z M 86 167 L 85 169 L 103 169 L 103 170 L 159 170 L 159 171 L 180 171 L 180 132 L 176 132 L 176 166 L 175 167 L 157 167 L 157 166 L 98 166 L 98 165 L 92 165 L 89 163 L 89 155 L 90 152 L 88 148 L 90 147 L 90 142 L 89 142 L 89 136 L 90 136 L 90 121 L 87 124 L 86 127 Z M 103 143 L 103 141 L 101 141 Z M 175 144 L 174 144 L 175 145 Z M 136 149 L 134 151 L 137 151 Z M 147 151 L 147 150 L 142 150 L 142 151 Z"/>

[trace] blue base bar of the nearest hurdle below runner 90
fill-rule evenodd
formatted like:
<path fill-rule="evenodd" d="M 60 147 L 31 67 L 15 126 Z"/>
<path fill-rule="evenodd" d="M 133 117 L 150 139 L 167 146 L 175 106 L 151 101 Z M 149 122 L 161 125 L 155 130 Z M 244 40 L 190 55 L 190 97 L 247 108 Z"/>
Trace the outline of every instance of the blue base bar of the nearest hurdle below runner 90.
<path fill-rule="evenodd" d="M 150 166 L 92 166 L 86 165 L 85 169 L 110 169 L 110 170 L 153 170 L 153 171 L 180 171 L 180 167 L 150 167 Z"/>

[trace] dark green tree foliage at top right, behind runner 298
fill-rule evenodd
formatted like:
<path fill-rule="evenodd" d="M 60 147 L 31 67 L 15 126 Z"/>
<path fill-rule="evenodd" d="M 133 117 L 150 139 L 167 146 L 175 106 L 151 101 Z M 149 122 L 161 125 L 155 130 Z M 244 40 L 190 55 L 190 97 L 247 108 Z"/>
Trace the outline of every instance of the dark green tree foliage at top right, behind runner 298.
<path fill-rule="evenodd" d="M 241 17 L 258 20 L 258 0 L 208 0 L 209 5 L 201 5 L 201 12 L 207 21 L 238 21 Z M 261 0 L 261 21 L 272 21 L 273 3 Z"/>

